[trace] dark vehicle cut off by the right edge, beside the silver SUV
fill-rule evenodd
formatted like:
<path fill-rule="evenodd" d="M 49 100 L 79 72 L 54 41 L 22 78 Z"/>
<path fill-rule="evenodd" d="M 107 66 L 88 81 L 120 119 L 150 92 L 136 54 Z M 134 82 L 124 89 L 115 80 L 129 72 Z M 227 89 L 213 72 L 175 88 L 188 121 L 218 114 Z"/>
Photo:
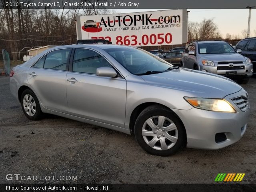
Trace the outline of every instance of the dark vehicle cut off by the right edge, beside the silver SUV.
<path fill-rule="evenodd" d="M 253 64 L 253 74 L 256 75 L 256 37 L 245 38 L 236 44 L 236 49 L 241 49 L 242 54 L 248 57 Z"/>

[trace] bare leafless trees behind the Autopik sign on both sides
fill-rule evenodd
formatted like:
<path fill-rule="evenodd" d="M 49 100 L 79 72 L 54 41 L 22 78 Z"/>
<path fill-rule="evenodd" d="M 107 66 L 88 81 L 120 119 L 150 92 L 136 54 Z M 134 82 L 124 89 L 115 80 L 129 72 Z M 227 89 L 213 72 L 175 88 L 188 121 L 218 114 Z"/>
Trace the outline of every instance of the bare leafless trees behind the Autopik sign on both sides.
<path fill-rule="evenodd" d="M 5 4 L 6 1 L 8 0 L 0 0 L 0 3 Z M 68 0 L 63 0 L 63 4 L 64 1 Z M 90 0 L 86 0 L 88 1 Z M 74 9 L 21 9 L 17 7 L 13 9 L 5 6 L 0 9 L 0 48 L 10 53 L 11 59 L 18 60 L 18 52 L 24 47 L 75 44 L 77 16 L 110 13 L 116 13 L 116 10 L 110 11 L 98 7 L 76 7 Z M 242 34 L 246 33 L 246 30 L 242 31 Z M 256 36 L 256 30 L 254 33 Z M 233 37 L 233 39 L 238 38 L 239 36 Z M 207 39 L 232 40 L 232 37 L 226 34 L 226 37 L 222 38 L 213 18 L 204 19 L 200 23 L 188 22 L 188 42 Z M 21 57 L 23 55 L 26 53 L 21 54 Z"/>

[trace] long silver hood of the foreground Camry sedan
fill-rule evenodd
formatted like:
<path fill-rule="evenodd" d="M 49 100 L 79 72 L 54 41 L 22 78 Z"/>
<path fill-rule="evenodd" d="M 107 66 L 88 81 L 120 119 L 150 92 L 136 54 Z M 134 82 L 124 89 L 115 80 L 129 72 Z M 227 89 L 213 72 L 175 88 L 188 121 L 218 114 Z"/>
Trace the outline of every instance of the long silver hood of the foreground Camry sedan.
<path fill-rule="evenodd" d="M 178 68 L 159 74 L 140 76 L 148 84 L 190 92 L 184 96 L 224 98 L 242 87 L 234 81 L 216 74 Z"/>

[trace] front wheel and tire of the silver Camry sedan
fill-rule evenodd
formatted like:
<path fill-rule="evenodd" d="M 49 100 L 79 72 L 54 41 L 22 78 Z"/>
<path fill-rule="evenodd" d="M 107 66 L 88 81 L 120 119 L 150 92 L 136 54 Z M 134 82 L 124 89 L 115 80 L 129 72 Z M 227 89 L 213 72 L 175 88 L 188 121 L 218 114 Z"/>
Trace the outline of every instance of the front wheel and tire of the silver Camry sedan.
<path fill-rule="evenodd" d="M 153 155 L 173 155 L 186 145 L 186 131 L 178 116 L 159 105 L 140 113 L 134 133 L 140 146 Z"/>

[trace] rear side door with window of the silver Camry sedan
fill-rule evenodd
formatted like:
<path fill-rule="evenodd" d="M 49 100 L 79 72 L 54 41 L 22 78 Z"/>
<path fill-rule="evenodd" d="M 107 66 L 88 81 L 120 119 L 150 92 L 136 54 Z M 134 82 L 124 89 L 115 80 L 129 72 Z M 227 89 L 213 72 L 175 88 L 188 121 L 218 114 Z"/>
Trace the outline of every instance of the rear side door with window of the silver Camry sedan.
<path fill-rule="evenodd" d="M 28 83 L 44 108 L 68 112 L 66 75 L 71 50 L 71 48 L 53 50 L 28 70 Z"/>

